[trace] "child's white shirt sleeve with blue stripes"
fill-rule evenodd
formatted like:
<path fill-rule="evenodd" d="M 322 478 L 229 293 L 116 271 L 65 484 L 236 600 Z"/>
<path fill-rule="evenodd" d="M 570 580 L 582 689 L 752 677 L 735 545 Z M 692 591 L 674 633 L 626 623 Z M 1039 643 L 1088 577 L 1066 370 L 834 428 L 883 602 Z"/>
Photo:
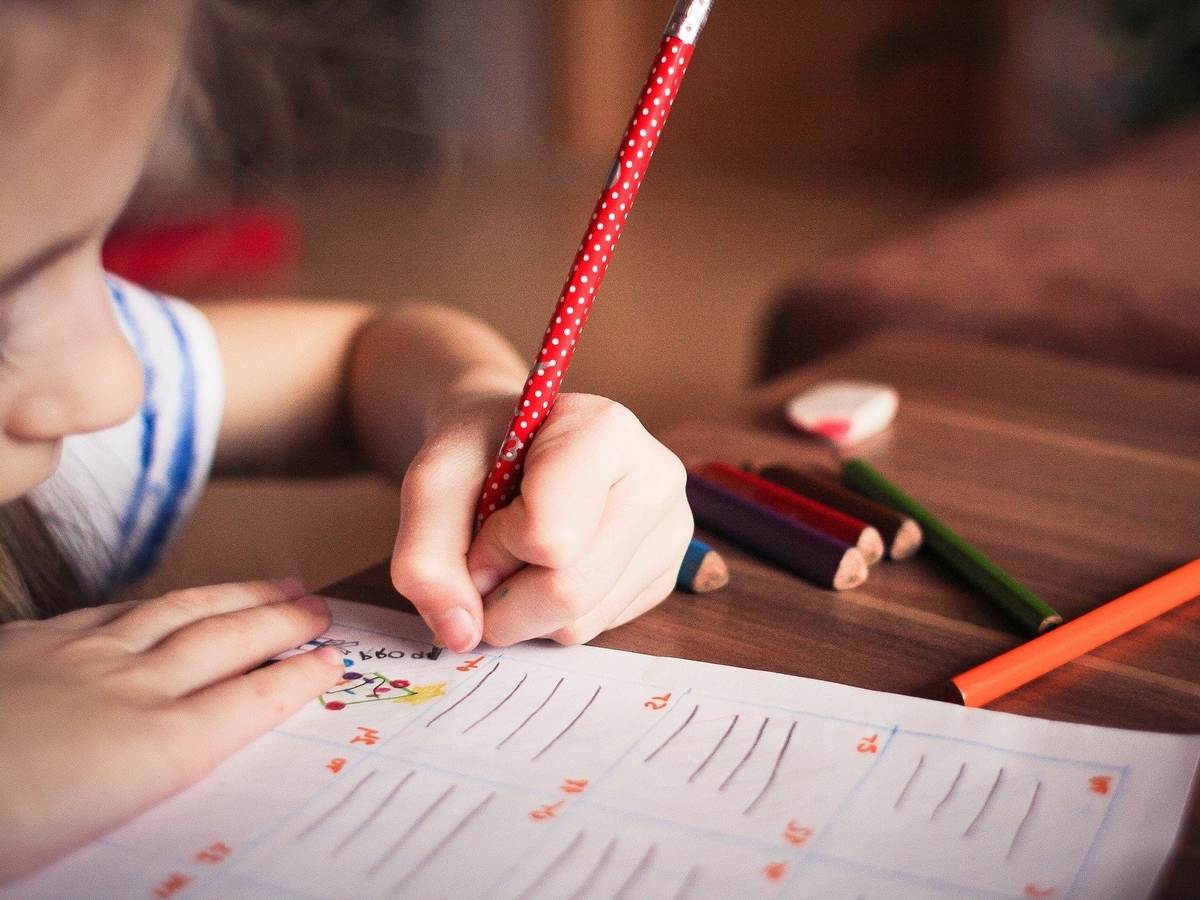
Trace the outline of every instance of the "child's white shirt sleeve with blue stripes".
<path fill-rule="evenodd" d="M 122 425 L 68 437 L 31 499 L 89 587 L 109 594 L 148 575 L 208 481 L 224 382 L 208 320 L 187 304 L 116 277 L 113 304 L 145 374 Z"/>

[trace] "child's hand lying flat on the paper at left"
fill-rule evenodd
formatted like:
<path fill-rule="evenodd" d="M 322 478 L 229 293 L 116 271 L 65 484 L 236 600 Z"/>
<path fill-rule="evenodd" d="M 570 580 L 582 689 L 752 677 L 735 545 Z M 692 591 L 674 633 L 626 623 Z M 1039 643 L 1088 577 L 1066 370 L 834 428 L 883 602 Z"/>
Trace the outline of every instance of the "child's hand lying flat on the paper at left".
<path fill-rule="evenodd" d="M 323 600 L 221 584 L 0 626 L 0 883 L 198 781 L 332 685 Z"/>

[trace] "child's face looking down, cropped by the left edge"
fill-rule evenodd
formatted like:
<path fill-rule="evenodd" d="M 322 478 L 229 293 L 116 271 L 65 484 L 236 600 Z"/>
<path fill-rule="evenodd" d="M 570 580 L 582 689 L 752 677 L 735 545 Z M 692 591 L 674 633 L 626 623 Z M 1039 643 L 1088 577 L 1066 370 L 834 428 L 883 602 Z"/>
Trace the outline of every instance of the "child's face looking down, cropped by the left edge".
<path fill-rule="evenodd" d="M 100 246 L 179 64 L 185 0 L 0 0 L 0 502 L 128 419 L 142 368 Z"/>

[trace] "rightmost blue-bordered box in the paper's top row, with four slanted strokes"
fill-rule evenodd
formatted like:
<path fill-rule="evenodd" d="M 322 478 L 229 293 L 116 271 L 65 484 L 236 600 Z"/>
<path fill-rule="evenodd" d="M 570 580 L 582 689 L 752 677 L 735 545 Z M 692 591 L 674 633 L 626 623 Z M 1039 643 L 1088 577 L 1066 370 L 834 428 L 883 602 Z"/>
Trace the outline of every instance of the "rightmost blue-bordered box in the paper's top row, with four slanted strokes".
<path fill-rule="evenodd" d="M 899 732 L 821 852 L 944 884 L 949 896 L 979 886 L 997 896 L 1070 896 L 1122 775 Z"/>

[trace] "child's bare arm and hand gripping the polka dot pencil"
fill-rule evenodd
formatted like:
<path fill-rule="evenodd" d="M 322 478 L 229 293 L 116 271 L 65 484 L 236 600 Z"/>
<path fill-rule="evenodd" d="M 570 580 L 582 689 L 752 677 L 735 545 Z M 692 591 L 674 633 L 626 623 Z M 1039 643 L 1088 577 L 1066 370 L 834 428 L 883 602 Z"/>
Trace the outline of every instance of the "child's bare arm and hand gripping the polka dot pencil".
<path fill-rule="evenodd" d="M 527 377 L 486 325 L 428 306 L 205 312 L 227 370 L 218 466 L 306 464 L 353 434 L 360 458 L 403 479 L 392 580 L 451 649 L 586 641 L 674 586 L 691 536 L 683 467 L 601 397 L 558 398 L 521 496 L 472 540 L 482 479 Z"/>

